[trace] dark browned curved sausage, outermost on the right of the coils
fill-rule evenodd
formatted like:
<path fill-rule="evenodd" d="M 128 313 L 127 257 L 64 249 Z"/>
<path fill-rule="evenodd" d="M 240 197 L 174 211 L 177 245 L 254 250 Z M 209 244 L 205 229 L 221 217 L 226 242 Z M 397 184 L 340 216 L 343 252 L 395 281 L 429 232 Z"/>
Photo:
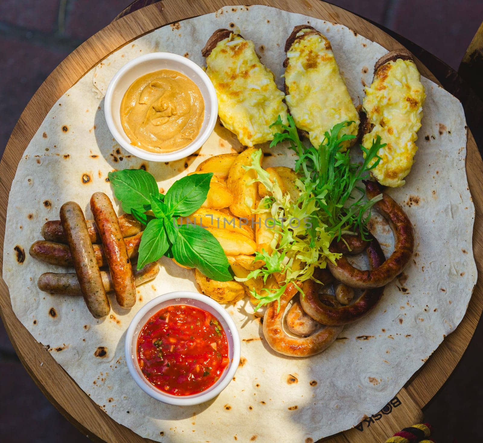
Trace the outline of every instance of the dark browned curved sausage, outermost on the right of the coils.
<path fill-rule="evenodd" d="M 382 193 L 379 183 L 365 181 L 369 199 Z M 327 263 L 332 275 L 351 288 L 380 288 L 398 276 L 409 263 L 414 251 L 412 224 L 402 208 L 389 195 L 382 193 L 383 199 L 374 205 L 388 221 L 394 234 L 394 252 L 378 268 L 361 271 L 352 266 L 342 256 L 336 264 Z"/>

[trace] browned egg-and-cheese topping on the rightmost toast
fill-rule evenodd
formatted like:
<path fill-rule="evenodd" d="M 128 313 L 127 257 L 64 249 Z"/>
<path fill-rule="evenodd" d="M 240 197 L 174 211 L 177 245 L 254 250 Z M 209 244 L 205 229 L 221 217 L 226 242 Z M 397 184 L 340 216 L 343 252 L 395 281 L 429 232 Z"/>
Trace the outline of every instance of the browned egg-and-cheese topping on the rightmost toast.
<path fill-rule="evenodd" d="M 381 148 L 379 165 L 371 173 L 384 186 L 396 188 L 406 183 L 417 146 L 417 132 L 423 118 L 426 99 L 416 65 L 398 58 L 378 69 L 374 81 L 366 87 L 364 109 L 372 131 L 362 140 L 369 148 L 377 135 L 387 146 Z M 372 162 L 373 163 L 373 162 Z"/>

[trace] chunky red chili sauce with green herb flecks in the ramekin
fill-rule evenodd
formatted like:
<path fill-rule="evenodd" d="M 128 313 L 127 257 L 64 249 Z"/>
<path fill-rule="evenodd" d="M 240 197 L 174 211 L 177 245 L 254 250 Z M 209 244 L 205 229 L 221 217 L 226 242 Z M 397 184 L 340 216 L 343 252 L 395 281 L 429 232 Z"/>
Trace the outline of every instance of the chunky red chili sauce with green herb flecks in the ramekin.
<path fill-rule="evenodd" d="M 151 317 L 139 334 L 137 356 L 153 386 L 180 396 L 210 388 L 229 362 L 221 324 L 189 305 L 166 306 Z"/>

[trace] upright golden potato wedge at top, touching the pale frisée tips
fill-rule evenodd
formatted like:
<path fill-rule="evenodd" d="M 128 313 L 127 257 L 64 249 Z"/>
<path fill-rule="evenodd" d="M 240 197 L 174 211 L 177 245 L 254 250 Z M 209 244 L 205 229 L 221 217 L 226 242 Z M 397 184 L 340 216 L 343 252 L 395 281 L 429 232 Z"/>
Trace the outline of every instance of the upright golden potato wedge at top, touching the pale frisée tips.
<path fill-rule="evenodd" d="M 243 166 L 252 164 L 252 153 L 257 148 L 248 148 L 241 152 L 235 159 L 228 172 L 227 185 L 234 197 L 230 205 L 230 211 L 237 217 L 248 219 L 252 216 L 251 209 L 255 209 L 258 202 L 258 184 L 248 184 L 250 180 L 256 179 L 256 172 L 251 169 L 246 171 Z M 245 202 L 251 200 L 251 208 Z"/>

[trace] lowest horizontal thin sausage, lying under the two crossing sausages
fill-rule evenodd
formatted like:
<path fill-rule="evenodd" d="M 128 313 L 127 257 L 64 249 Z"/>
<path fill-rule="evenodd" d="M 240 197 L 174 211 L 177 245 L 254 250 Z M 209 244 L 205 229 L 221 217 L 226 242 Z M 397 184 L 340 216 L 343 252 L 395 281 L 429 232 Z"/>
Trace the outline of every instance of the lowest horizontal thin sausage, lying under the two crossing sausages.
<path fill-rule="evenodd" d="M 142 285 L 146 281 L 152 280 L 159 273 L 159 264 L 157 262 L 148 263 L 142 269 L 135 271 L 134 280 L 136 287 Z M 100 271 L 102 284 L 106 292 L 113 291 L 113 280 L 108 271 Z M 82 295 L 81 286 L 77 275 L 72 274 L 55 274 L 46 272 L 39 277 L 37 286 L 41 291 L 50 292 L 51 294 L 60 295 Z"/>

